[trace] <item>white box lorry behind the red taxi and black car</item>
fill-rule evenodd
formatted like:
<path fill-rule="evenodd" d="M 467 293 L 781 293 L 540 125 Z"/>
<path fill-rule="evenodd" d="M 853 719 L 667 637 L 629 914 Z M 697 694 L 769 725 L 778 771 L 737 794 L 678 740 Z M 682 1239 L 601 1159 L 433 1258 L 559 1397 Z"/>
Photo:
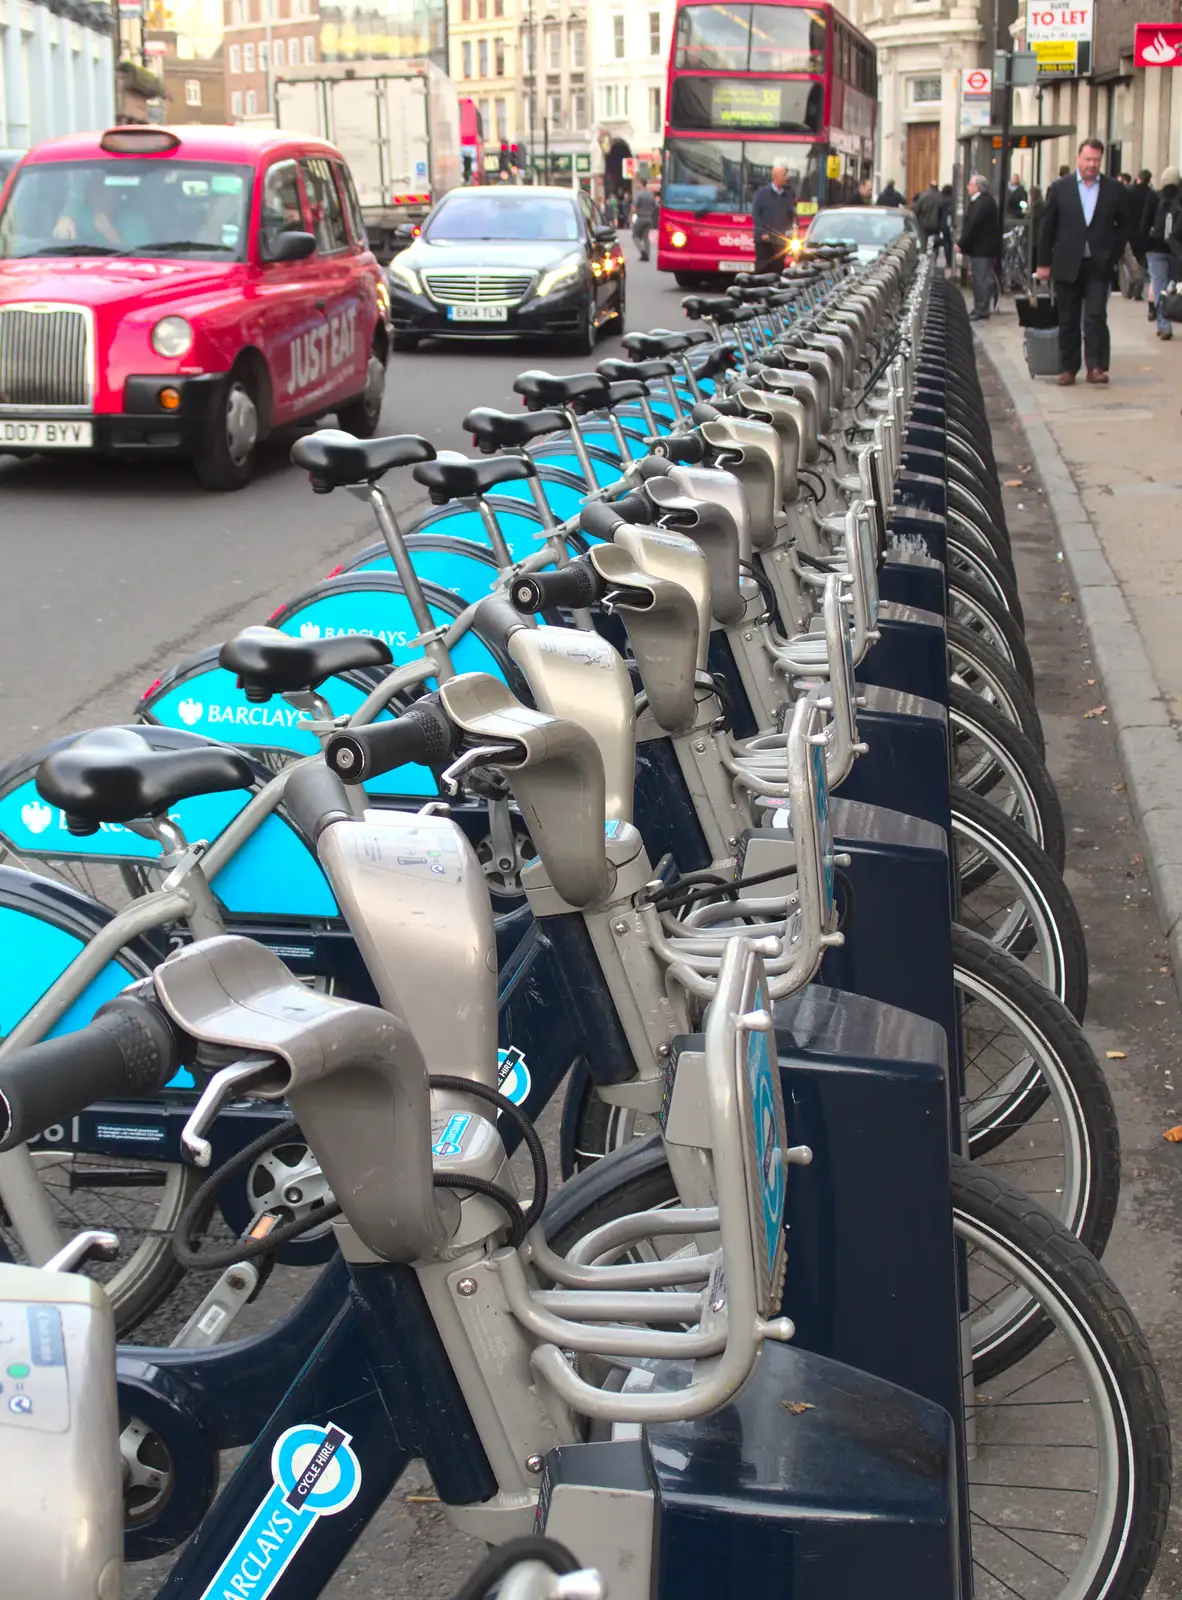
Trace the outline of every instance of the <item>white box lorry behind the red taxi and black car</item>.
<path fill-rule="evenodd" d="M 432 61 L 321 61 L 275 78 L 275 123 L 334 144 L 357 184 L 369 248 L 389 261 L 461 181 L 459 98 Z"/>

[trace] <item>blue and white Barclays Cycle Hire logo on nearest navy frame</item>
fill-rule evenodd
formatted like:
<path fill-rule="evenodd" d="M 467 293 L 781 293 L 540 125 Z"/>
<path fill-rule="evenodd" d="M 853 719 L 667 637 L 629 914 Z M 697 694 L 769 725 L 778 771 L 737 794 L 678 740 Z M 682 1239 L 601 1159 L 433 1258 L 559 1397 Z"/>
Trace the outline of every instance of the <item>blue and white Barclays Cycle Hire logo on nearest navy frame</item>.
<path fill-rule="evenodd" d="M 301 1422 L 275 1440 L 274 1485 L 238 1534 L 202 1600 L 264 1600 L 291 1565 L 318 1517 L 357 1499 L 361 1466 L 352 1435 Z"/>

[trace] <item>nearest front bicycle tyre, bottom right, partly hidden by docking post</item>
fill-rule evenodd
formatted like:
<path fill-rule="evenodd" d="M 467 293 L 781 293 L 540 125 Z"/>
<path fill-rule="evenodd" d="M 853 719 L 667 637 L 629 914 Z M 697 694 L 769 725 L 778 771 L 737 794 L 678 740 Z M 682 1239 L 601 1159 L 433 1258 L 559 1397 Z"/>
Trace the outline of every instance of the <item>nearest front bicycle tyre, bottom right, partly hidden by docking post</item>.
<path fill-rule="evenodd" d="M 590 1200 L 561 1232 L 550 1238 L 550 1245 L 558 1251 L 568 1250 L 603 1222 L 632 1211 L 661 1210 L 675 1200 L 677 1190 L 669 1166 L 651 1166 Z M 1104 1432 L 1097 1424 L 1097 1437 L 1115 1438 L 1118 1443 L 1120 1493 L 1092 1517 L 1096 1534 L 1092 1570 L 1084 1570 L 1083 1582 L 1073 1582 L 1078 1568 L 1076 1574 L 1064 1573 L 1068 1582 L 1057 1587 L 1057 1594 L 1051 1579 L 1052 1587 L 1044 1590 L 1044 1600 L 1137 1600 L 1161 1549 L 1172 1466 L 1169 1416 L 1145 1338 L 1120 1290 L 1088 1248 L 1020 1189 L 980 1171 L 971 1162 L 953 1157 L 950 1202 L 953 1232 L 966 1256 L 992 1254 L 995 1262 L 1006 1264 L 1016 1277 L 1020 1274 L 1019 1282 L 1030 1301 L 1022 1326 L 1014 1330 L 1008 1344 L 998 1342 L 992 1330 L 988 1338 L 984 1338 L 985 1325 L 979 1325 L 980 1338 L 976 1331 L 971 1333 L 974 1389 L 968 1416 L 974 1430 L 982 1429 L 980 1419 L 985 1411 L 1016 1410 L 1006 1400 L 985 1398 L 982 1405 L 982 1386 L 1003 1373 L 1011 1373 L 1020 1360 L 1056 1333 L 1056 1318 L 1062 1318 L 1080 1347 L 1094 1355 L 1089 1365 L 1102 1379 L 1096 1387 L 1096 1398 L 1100 1403 L 1091 1405 L 1084 1414 L 1104 1411 Z M 685 1243 L 681 1235 L 677 1243 Z M 1049 1310 L 1043 1309 L 1044 1306 Z M 1004 1453 L 1001 1461 L 1004 1470 Z M 1019 1461 L 1019 1472 L 1022 1466 Z M 982 1478 L 982 1470 L 992 1474 L 996 1466 L 988 1451 L 977 1448 L 969 1462 L 968 1482 L 974 1563 L 987 1579 L 1000 1581 L 996 1573 L 984 1565 L 987 1554 L 984 1546 L 990 1534 L 995 1531 L 1004 1534 L 1004 1525 L 993 1525 L 987 1518 L 990 1496 L 993 1490 L 1004 1488 L 1012 1502 L 1014 1493 L 1022 1491 L 1017 1509 L 1022 1515 L 1028 1515 L 1025 1491 L 1032 1485 L 1000 1485 L 992 1477 Z M 1033 1531 L 1059 1533 L 1056 1526 Z M 1088 1549 L 1091 1550 L 1091 1541 Z M 1043 1566 L 1051 1563 L 1044 1562 Z M 980 1584 L 977 1594 L 982 1597 L 987 1590 L 992 1600 L 992 1584 Z M 1011 1587 L 1009 1592 L 1020 1597 L 1017 1589 Z"/>

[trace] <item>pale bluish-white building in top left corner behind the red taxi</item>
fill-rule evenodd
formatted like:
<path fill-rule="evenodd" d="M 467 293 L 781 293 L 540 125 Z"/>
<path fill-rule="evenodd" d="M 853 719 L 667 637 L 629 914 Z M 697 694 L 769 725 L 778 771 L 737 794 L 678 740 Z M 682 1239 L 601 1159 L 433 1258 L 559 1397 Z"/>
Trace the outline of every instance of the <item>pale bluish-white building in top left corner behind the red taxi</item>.
<path fill-rule="evenodd" d="M 112 10 L 0 0 L 0 147 L 24 150 L 115 120 Z"/>

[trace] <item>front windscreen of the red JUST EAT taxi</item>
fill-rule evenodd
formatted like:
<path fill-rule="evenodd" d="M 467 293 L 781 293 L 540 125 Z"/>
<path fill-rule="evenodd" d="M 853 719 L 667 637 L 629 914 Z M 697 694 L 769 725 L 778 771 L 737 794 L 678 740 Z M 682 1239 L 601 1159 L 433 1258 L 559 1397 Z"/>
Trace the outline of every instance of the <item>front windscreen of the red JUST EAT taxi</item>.
<path fill-rule="evenodd" d="M 213 162 L 38 162 L 0 214 L 0 258 L 192 256 L 242 261 L 251 168 Z"/>

